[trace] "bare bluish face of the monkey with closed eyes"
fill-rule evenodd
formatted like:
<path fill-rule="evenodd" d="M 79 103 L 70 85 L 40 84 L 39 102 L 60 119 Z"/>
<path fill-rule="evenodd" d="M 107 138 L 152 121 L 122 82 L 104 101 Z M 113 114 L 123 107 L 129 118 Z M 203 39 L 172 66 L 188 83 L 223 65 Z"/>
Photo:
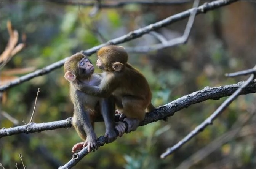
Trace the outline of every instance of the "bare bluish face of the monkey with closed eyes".
<path fill-rule="evenodd" d="M 78 78 L 88 78 L 94 72 L 94 66 L 93 64 L 91 64 L 88 58 L 82 58 L 78 62 L 78 68 L 79 68 Z"/>

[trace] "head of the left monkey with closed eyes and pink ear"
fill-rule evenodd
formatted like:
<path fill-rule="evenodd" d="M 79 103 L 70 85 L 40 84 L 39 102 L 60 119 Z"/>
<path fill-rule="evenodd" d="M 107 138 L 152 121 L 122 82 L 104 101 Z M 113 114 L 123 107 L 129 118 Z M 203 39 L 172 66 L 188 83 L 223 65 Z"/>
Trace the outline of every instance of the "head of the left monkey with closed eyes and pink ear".
<path fill-rule="evenodd" d="M 94 66 L 82 53 L 76 53 L 64 63 L 64 77 L 69 82 L 88 79 L 94 72 Z"/>

